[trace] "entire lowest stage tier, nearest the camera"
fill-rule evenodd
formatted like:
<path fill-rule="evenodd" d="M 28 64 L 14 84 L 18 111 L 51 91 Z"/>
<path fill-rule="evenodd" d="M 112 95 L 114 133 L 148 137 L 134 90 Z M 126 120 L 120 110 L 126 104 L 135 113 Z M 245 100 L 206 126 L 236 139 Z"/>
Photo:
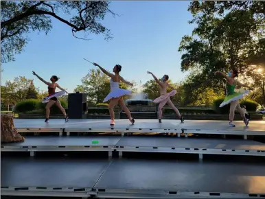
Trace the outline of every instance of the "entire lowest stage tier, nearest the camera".
<path fill-rule="evenodd" d="M 172 191 L 188 196 L 265 194 L 264 167 L 264 163 L 1 157 L 1 190 L 94 188 L 98 194 L 160 194 L 162 198 Z"/>

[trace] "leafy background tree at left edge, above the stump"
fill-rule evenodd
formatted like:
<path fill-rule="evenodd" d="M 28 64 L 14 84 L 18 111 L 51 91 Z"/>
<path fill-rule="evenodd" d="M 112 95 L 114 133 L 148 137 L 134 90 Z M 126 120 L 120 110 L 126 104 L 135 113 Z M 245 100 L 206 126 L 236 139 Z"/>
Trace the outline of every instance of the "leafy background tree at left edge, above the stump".
<path fill-rule="evenodd" d="M 1 86 L 1 101 L 6 105 L 12 102 L 21 102 L 27 98 L 27 90 L 30 87 L 32 80 L 19 76 L 12 81 L 5 82 Z"/>

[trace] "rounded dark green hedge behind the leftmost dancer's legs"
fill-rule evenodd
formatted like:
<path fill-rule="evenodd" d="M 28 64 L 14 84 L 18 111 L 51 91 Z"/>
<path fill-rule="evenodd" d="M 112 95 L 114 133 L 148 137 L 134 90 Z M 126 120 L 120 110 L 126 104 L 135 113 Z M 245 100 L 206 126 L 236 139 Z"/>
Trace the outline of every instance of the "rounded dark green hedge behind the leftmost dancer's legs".
<path fill-rule="evenodd" d="M 62 104 L 63 108 L 67 108 L 67 101 L 60 100 L 60 104 Z M 47 103 L 42 103 L 40 100 L 25 100 L 23 102 L 19 102 L 16 104 L 16 112 L 18 113 L 35 113 L 35 114 L 45 114 Z M 55 104 L 50 108 L 52 115 L 59 115 L 62 114 L 58 106 Z"/>

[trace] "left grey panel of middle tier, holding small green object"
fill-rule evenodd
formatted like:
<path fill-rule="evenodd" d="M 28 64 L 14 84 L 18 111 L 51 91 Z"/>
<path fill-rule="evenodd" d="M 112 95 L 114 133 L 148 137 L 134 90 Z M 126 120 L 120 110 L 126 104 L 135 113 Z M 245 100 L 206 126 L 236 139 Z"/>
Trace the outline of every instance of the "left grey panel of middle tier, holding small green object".
<path fill-rule="evenodd" d="M 100 145 L 114 146 L 121 137 L 111 136 L 82 136 L 82 137 L 25 137 L 24 142 L 20 143 L 2 143 L 2 146 L 78 146 L 78 145 Z M 99 141 L 95 144 L 92 141 Z"/>

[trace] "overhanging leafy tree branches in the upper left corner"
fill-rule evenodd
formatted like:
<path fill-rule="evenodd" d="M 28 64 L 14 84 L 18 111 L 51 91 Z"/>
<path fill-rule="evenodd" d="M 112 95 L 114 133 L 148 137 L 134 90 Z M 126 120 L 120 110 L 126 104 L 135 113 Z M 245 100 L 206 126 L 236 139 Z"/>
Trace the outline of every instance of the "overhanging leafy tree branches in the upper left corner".
<path fill-rule="evenodd" d="M 51 18 L 71 27 L 73 36 L 84 32 L 82 39 L 93 34 L 104 34 L 112 38 L 100 21 L 107 13 L 107 1 L 1 1 L 1 62 L 14 61 L 14 54 L 20 54 L 30 38 L 29 32 L 46 34 L 51 30 Z M 67 16 L 62 18 L 62 13 Z"/>

